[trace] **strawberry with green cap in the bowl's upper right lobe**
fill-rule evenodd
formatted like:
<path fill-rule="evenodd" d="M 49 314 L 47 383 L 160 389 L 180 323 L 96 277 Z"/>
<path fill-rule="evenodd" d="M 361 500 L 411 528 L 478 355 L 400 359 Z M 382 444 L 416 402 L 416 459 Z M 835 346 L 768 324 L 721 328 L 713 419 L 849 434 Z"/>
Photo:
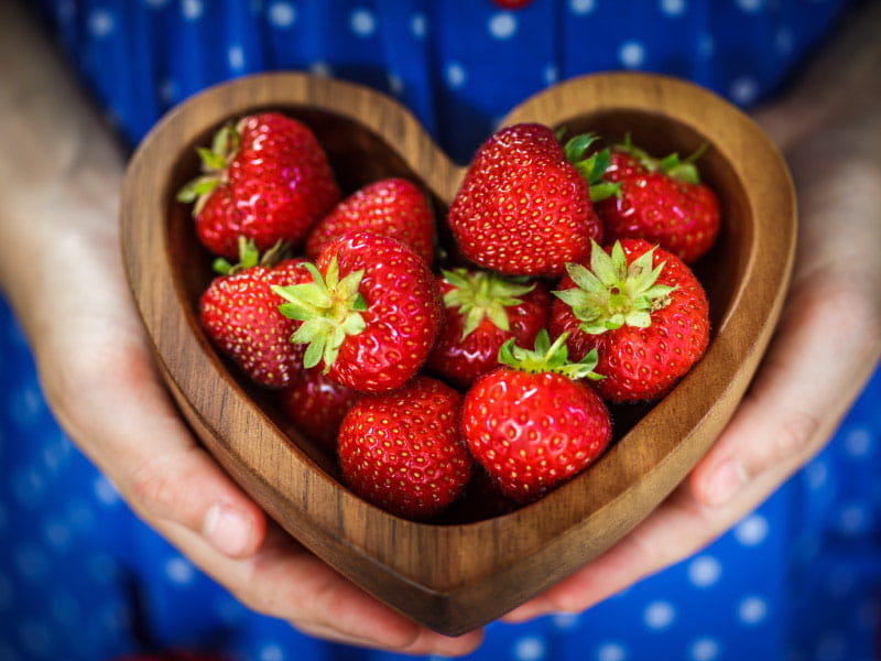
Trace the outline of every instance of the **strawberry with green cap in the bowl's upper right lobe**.
<path fill-rule="evenodd" d="M 619 183 L 620 189 L 597 204 L 606 240 L 645 239 L 688 264 L 703 257 L 721 220 L 719 201 L 700 183 L 695 166 L 701 152 L 684 161 L 677 154 L 657 160 L 634 147 L 629 136 L 613 148 L 603 178 Z"/>

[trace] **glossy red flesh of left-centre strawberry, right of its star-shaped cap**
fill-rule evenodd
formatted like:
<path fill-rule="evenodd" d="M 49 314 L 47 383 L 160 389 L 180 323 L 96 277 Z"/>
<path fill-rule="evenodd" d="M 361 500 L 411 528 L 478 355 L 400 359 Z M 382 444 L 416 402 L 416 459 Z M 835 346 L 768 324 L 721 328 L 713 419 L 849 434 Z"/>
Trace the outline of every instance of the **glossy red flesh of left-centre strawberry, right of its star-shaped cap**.
<path fill-rule="evenodd" d="M 443 321 L 440 293 L 428 266 L 396 239 L 349 232 L 327 243 L 322 273 L 333 259 L 339 277 L 363 269 L 365 329 L 348 336 L 328 376 L 355 390 L 383 392 L 402 386 L 428 358 Z"/>

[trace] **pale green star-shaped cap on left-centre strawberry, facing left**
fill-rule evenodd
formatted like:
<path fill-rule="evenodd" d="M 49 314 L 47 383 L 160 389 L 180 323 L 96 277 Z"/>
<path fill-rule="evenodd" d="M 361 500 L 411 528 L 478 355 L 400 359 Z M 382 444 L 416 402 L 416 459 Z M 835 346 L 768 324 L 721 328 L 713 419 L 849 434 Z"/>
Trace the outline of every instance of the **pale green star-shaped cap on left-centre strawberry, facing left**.
<path fill-rule="evenodd" d="M 312 368 L 324 360 L 324 372 L 327 373 L 346 337 L 365 329 L 361 313 L 367 310 L 367 302 L 359 291 L 365 271 L 354 271 L 340 279 L 336 259 L 324 275 L 315 264 L 303 266 L 312 273 L 312 282 L 273 285 L 272 291 L 286 301 L 279 305 L 279 311 L 289 318 L 303 322 L 291 336 L 291 342 L 308 345 L 303 357 L 304 367 Z"/>

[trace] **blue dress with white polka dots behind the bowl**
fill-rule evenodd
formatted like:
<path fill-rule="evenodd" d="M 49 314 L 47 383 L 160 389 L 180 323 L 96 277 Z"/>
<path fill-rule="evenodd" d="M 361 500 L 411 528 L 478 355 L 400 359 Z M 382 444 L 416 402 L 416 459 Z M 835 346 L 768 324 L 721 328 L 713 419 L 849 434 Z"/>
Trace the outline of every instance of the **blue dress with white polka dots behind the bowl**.
<path fill-rule="evenodd" d="M 47 31 L 134 145 L 220 80 L 303 69 L 409 106 L 467 162 L 529 95 L 594 71 L 700 83 L 750 107 L 839 0 L 43 0 Z M 0 661 L 144 649 L 242 661 L 391 661 L 250 613 L 151 532 L 54 422 L 0 302 Z M 834 441 L 694 557 L 581 615 L 492 624 L 475 659 L 869 661 L 881 581 L 881 376 Z"/>

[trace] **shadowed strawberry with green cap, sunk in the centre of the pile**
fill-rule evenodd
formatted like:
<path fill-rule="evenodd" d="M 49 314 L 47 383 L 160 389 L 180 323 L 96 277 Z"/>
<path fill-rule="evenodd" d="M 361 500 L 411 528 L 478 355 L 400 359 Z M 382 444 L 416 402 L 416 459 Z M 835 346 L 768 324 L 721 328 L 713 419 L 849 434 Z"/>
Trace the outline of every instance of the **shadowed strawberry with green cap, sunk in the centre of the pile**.
<path fill-rule="evenodd" d="M 532 346 L 547 323 L 551 294 L 543 283 L 456 269 L 444 271 L 438 284 L 446 323 L 426 366 L 456 386 L 470 386 L 497 368 L 505 340 Z"/>

